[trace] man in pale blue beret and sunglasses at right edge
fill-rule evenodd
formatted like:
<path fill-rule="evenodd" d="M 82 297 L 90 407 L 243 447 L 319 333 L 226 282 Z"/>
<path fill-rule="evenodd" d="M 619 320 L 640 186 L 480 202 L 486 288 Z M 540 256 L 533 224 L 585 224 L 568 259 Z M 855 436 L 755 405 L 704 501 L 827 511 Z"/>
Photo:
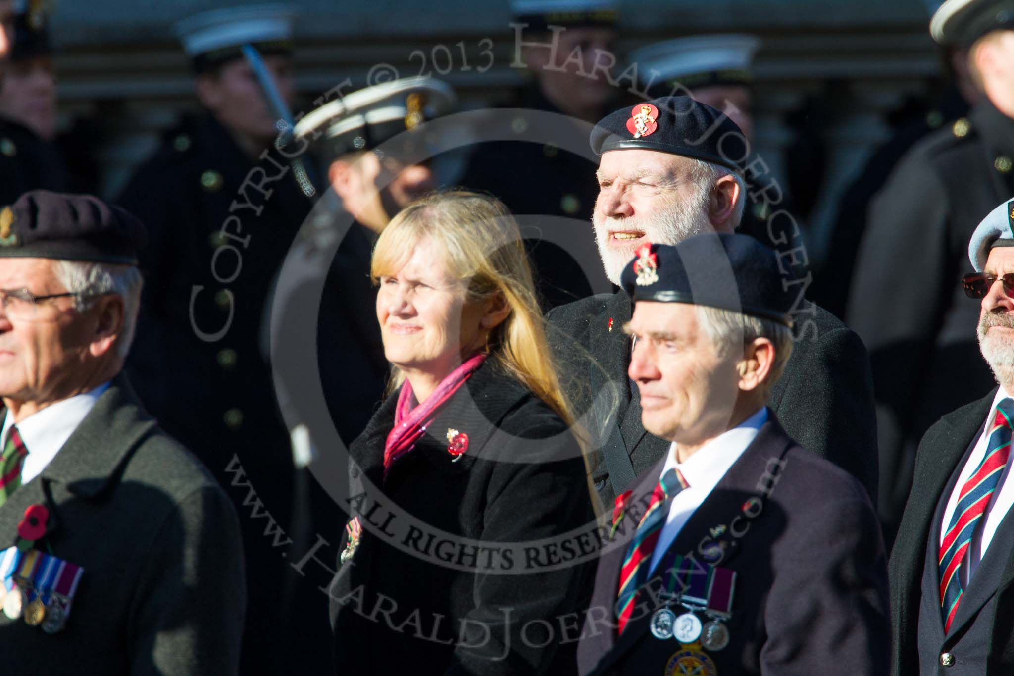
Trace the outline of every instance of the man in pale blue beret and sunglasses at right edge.
<path fill-rule="evenodd" d="M 975 228 L 968 258 L 962 287 L 981 299 L 979 347 L 999 387 L 919 444 L 890 557 L 898 675 L 1014 673 L 1014 197 Z"/>

